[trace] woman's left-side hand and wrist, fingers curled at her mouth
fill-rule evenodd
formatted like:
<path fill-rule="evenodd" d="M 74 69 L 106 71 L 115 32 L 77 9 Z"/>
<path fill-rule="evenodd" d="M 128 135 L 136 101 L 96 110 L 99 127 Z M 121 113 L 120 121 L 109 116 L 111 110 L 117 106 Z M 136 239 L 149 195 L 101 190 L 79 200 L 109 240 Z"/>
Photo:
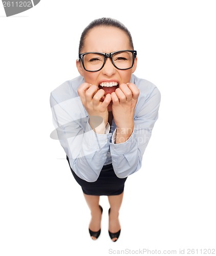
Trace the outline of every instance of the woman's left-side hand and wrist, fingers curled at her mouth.
<path fill-rule="evenodd" d="M 104 96 L 104 90 L 100 89 L 97 86 L 94 86 L 93 84 L 84 82 L 81 84 L 81 86 L 78 88 L 78 95 L 81 98 L 81 101 L 89 115 L 89 124 L 91 128 L 97 132 L 97 133 L 104 133 L 105 126 L 108 122 L 108 105 L 111 101 L 111 95 Z M 103 99 L 104 100 L 103 100 Z M 103 123 L 98 126 L 98 129 L 95 126 L 95 116 L 99 116 L 103 118 Z"/>

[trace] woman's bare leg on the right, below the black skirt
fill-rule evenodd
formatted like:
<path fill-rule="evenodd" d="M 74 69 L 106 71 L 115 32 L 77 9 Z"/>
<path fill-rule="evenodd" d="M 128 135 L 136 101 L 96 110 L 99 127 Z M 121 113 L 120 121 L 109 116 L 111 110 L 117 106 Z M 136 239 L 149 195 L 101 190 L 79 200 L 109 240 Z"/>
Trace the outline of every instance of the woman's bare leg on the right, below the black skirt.
<path fill-rule="evenodd" d="M 110 214 L 109 214 L 109 231 L 112 233 L 118 232 L 121 229 L 119 220 L 118 220 L 118 211 L 122 205 L 124 192 L 117 196 L 108 196 L 110 204 Z M 112 241 L 117 240 L 113 238 Z"/>

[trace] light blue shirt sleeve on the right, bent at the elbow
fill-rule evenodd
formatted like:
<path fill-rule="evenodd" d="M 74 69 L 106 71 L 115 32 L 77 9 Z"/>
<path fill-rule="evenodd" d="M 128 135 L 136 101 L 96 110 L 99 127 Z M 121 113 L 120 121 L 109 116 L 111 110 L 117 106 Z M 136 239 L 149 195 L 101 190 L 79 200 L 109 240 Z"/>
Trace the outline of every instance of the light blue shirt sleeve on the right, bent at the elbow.
<path fill-rule="evenodd" d="M 115 144 L 116 130 L 112 135 L 110 153 L 114 172 L 118 178 L 125 178 L 137 172 L 142 165 L 142 156 L 151 138 L 152 129 L 158 119 L 160 92 L 157 87 L 143 100 L 134 117 L 134 130 L 124 143 Z"/>

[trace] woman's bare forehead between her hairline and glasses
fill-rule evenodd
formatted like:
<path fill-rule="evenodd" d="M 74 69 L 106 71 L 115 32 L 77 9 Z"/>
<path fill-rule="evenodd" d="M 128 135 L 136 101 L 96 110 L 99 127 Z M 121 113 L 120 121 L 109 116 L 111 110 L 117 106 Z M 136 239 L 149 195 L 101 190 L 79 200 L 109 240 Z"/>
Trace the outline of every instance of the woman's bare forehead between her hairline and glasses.
<path fill-rule="evenodd" d="M 126 32 L 115 27 L 101 26 L 88 32 L 82 52 L 108 53 L 130 49 L 130 40 Z"/>

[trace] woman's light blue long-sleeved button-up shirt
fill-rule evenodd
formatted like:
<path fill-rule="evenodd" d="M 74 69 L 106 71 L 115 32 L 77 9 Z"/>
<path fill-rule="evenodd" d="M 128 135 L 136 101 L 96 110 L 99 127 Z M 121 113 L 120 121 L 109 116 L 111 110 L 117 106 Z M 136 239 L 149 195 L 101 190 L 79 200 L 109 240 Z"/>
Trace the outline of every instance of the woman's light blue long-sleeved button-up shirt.
<path fill-rule="evenodd" d="M 107 124 L 105 134 L 94 133 L 91 129 L 88 113 L 77 93 L 83 82 L 83 77 L 78 76 L 51 92 L 50 104 L 56 128 L 51 137 L 59 139 L 71 168 L 81 179 L 96 181 L 103 165 L 110 163 L 117 177 L 128 177 L 141 167 L 143 153 L 158 119 L 160 92 L 150 81 L 132 74 L 131 82 L 139 89 L 134 130 L 126 142 L 115 144 L 114 119 L 111 127 Z"/>

